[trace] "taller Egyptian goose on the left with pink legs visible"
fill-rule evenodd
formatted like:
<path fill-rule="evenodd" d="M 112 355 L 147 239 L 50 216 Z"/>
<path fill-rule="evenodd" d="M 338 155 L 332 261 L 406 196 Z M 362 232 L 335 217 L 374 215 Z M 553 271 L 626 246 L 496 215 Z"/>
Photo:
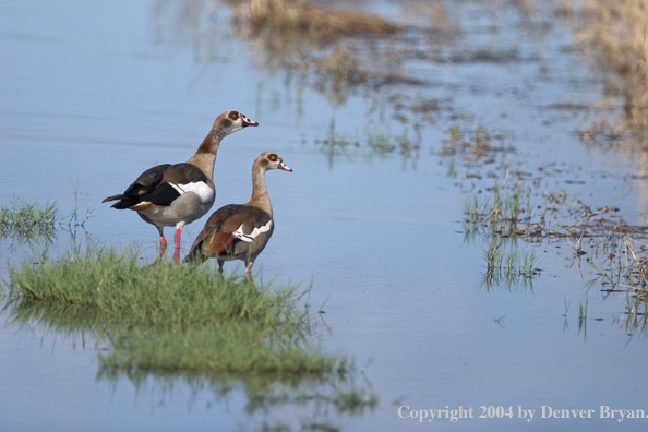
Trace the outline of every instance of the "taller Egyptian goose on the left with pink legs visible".
<path fill-rule="evenodd" d="M 164 227 L 176 227 L 173 262 L 180 262 L 180 237 L 187 224 L 200 219 L 212 205 L 216 192 L 212 176 L 220 140 L 247 127 L 256 127 L 237 111 L 221 113 L 197 151 L 182 164 L 164 164 L 142 172 L 123 193 L 108 196 L 103 203 L 117 201 L 112 208 L 137 212 L 144 221 L 159 231 L 160 255 L 167 248 Z"/>

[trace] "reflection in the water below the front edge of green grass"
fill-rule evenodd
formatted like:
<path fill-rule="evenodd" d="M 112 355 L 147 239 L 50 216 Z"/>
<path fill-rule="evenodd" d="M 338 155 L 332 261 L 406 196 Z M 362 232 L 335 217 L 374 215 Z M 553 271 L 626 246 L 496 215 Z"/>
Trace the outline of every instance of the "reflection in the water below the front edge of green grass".
<path fill-rule="evenodd" d="M 209 409 L 226 406 L 238 395 L 244 395 L 245 424 L 260 429 L 309 430 L 327 425 L 338 430 L 340 422 L 374 411 L 377 399 L 369 382 L 362 376 L 336 374 L 331 376 L 291 377 L 264 374 L 209 374 L 192 371 L 161 371 L 156 373 L 100 369 L 97 381 L 112 391 L 131 383 L 140 395 L 151 395 L 152 409 L 177 404 L 177 388 L 188 388 L 188 405 L 197 404 Z M 197 408 L 197 407 L 196 407 Z"/>

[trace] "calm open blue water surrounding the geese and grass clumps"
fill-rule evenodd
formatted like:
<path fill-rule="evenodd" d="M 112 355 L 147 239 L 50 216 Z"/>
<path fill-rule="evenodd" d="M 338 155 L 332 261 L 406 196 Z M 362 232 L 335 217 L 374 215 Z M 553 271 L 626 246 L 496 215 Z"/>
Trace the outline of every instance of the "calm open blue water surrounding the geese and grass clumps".
<path fill-rule="evenodd" d="M 348 139 L 368 129 L 400 135 L 409 128 L 388 107 L 369 109 L 391 89 L 358 91 L 340 105 L 312 86 L 300 89 L 281 71 L 261 67 L 257 51 L 230 37 L 227 8 L 185 4 L 197 14 L 189 22 L 181 8 L 159 1 L 0 5 L 3 205 L 20 196 L 56 200 L 62 213 L 92 208 L 87 232 L 76 228 L 77 237 L 107 244 L 135 241 L 143 260 L 151 260 L 156 230 L 135 214 L 101 205 L 101 199 L 122 191 L 149 166 L 185 160 L 218 113 L 240 110 L 260 128 L 224 141 L 215 170 L 216 205 L 247 201 L 250 166 L 263 151 L 277 152 L 295 170 L 266 177 L 276 229 L 255 275 L 303 286 L 312 280 L 311 303 L 325 303 L 325 324 L 319 325 L 323 346 L 356 357 L 362 379 L 379 396 L 374 411 L 323 416 L 332 424 L 400 430 L 416 422 L 398 416 L 400 406 L 461 406 L 472 408 L 476 418 L 434 422 L 458 430 L 644 429 L 645 420 L 598 418 L 599 406 L 648 412 L 647 379 L 637 370 L 648 347 L 645 334 L 620 328 L 625 296 L 586 290 L 596 273 L 571 265 L 564 243 L 525 247 L 542 260 L 532 289 L 482 287 L 482 243 L 464 241 L 464 202 L 473 187 L 465 169 L 482 176 L 478 190 L 493 185 L 489 172 L 501 183 L 505 165 L 502 157 L 491 165 L 457 160 L 455 178 L 447 176 L 448 158 L 439 156 L 449 127 L 483 124 L 516 148 L 506 156 L 511 166 L 537 172 L 556 164 L 562 172 L 543 176 L 542 188 L 566 189 L 593 208 L 615 205 L 627 223 L 640 224 L 643 185 L 631 178 L 632 161 L 583 147 L 574 132 L 583 129 L 587 112 L 551 108 L 596 100 L 602 87 L 566 49 L 566 29 L 555 24 L 542 37 L 530 37 L 516 9 L 502 4 L 489 12 L 499 23 L 495 45 L 518 49 L 516 60 L 407 64 L 430 84 L 400 84 L 396 91 L 452 106 L 435 123 L 423 124 L 416 158 L 353 146 L 331 157 L 321 142 L 332 119 L 335 131 Z M 392 2 L 375 8 L 397 9 Z M 453 12 L 472 28 L 460 40 L 468 48 L 489 35 L 483 12 L 465 2 Z M 405 21 L 409 15 L 393 16 Z M 469 116 L 457 120 L 457 112 Z M 183 253 L 203 221 L 183 230 Z M 69 241 L 70 233 L 59 230 L 52 253 Z M 0 239 L 3 279 L 8 266 L 34 253 L 20 243 Z M 242 266 L 226 264 L 226 271 L 241 273 Z M 584 326 L 578 305 L 586 299 Z M 97 374 L 103 348 L 97 340 L 19 326 L 7 312 L 0 320 L 0 430 L 124 424 L 158 431 L 254 430 L 283 419 L 299 429 L 299 407 L 249 413 L 242 389 L 224 398 L 207 389 L 194 394 L 181 377 L 169 383 L 152 376 L 140 386 L 124 377 L 112 382 Z M 480 406 L 513 407 L 514 418 L 477 418 Z M 519 406 L 536 410 L 531 422 L 518 418 Z M 540 419 L 542 406 L 595 409 L 596 416 Z M 320 413 L 307 409 L 305 416 Z"/>

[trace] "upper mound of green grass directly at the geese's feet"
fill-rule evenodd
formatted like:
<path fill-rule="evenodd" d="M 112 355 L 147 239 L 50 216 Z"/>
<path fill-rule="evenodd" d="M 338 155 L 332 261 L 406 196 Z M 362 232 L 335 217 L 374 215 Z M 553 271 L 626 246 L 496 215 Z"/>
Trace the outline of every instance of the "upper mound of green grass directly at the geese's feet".
<path fill-rule="evenodd" d="M 237 279 L 214 279 L 208 266 L 141 268 L 136 250 L 76 248 L 56 262 L 23 264 L 9 272 L 10 295 L 21 299 L 94 307 L 116 320 L 146 325 L 235 319 L 269 325 L 303 319 L 295 308 L 295 288 L 259 290 Z"/>

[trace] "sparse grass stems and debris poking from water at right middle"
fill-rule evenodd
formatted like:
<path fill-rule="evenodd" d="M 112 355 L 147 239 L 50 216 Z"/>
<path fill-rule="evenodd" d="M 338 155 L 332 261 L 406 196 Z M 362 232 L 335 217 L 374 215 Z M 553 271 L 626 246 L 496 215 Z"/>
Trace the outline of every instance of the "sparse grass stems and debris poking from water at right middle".
<path fill-rule="evenodd" d="M 533 250 L 519 249 L 519 242 L 542 244 L 549 240 L 566 240 L 573 252 L 569 266 L 587 256 L 586 263 L 597 272 L 597 276 L 587 281 L 588 289 L 598 287 L 603 296 L 627 295 L 621 328 L 629 335 L 648 334 L 646 227 L 625 225 L 614 216 L 614 206 L 592 209 L 562 190 L 542 194 L 544 209 L 540 213 L 542 207 L 531 203 L 531 191 L 519 179 L 509 183 L 513 184 L 487 189 L 490 194 L 483 197 L 473 193 L 464 207 L 466 241 L 479 237 L 484 244 L 487 271 L 481 286 L 487 290 L 499 286 L 508 290 L 513 287 L 532 290 L 535 279 L 540 276 L 538 256 Z M 565 302 L 565 316 L 568 309 Z M 578 328 L 585 334 L 587 310 L 586 300 L 578 309 Z"/>

